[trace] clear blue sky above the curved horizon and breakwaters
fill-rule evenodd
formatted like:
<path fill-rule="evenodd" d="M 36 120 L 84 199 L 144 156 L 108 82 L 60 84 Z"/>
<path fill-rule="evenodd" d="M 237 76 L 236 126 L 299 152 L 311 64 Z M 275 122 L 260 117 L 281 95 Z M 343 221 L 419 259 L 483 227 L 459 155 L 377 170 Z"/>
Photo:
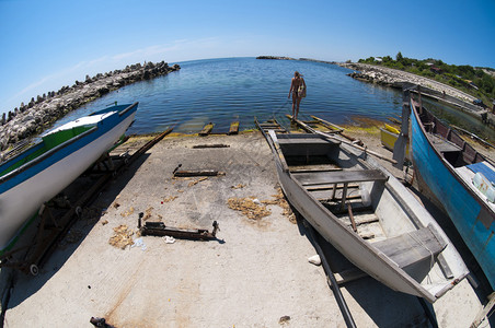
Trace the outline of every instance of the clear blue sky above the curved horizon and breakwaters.
<path fill-rule="evenodd" d="M 0 0 L 0 113 L 127 65 L 277 55 L 495 68 L 494 0 Z"/>

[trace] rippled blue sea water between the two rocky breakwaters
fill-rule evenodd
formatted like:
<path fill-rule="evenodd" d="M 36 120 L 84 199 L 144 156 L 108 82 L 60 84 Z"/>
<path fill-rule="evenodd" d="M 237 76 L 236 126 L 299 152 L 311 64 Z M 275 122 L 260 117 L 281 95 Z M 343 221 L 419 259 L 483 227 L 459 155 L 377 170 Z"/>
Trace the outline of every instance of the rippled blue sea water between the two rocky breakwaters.
<path fill-rule="evenodd" d="M 173 65 L 173 63 L 170 63 Z M 336 65 L 300 60 L 223 58 L 179 62 L 181 70 L 150 81 L 126 85 L 69 114 L 57 125 L 113 105 L 139 102 L 136 121 L 128 133 L 198 132 L 214 122 L 214 132 L 227 132 L 232 121 L 240 129 L 258 120 L 287 122 L 288 99 L 295 71 L 303 74 L 308 95 L 300 117 L 314 115 L 334 124 L 355 124 L 356 116 L 388 121 L 402 114 L 402 93 L 362 83 Z"/>

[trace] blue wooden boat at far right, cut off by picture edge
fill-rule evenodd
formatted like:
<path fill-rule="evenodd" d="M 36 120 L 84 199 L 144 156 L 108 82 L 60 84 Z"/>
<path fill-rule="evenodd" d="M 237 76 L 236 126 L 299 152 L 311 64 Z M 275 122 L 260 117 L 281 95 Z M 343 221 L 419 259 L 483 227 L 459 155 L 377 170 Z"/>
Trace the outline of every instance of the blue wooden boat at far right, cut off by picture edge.
<path fill-rule="evenodd" d="M 415 102 L 411 113 L 412 157 L 419 187 L 442 204 L 495 289 L 493 162 Z"/>

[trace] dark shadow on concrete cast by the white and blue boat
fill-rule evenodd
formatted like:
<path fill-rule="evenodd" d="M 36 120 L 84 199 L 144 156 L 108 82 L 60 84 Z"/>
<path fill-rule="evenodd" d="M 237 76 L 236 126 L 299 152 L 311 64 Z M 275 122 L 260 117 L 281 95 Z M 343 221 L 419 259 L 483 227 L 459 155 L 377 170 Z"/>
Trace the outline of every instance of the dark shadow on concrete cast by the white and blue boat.
<path fill-rule="evenodd" d="M 113 203 L 117 195 L 134 177 L 142 163 L 147 161 L 148 156 L 149 154 L 142 154 L 133 164 L 125 167 L 120 175 L 111 179 L 103 186 L 102 189 L 100 189 L 100 191 L 97 191 L 97 194 L 83 209 L 83 213 L 84 210 L 90 209 L 90 211 L 92 211 L 95 215 L 90 214 L 88 218 L 84 218 L 83 214 L 82 218 L 76 220 L 72 226 L 68 230 L 68 233 L 55 245 L 53 253 L 48 253 L 46 259 L 39 265 L 39 274 L 33 277 L 30 273 L 24 273 L 18 270 L 1 270 L 0 279 L 9 279 L 9 277 L 5 276 L 12 276 L 12 292 L 7 306 L 4 305 L 4 309 L 8 311 L 9 308 L 13 308 L 23 303 L 31 295 L 42 289 L 43 285 L 58 272 L 64 263 L 72 256 L 76 249 L 78 249 L 94 225 L 100 221 L 100 218 L 104 214 L 104 211 Z M 71 202 L 76 202 L 77 199 L 91 187 L 92 180 L 94 181 L 95 179 L 89 177 L 88 175 L 82 175 L 69 187 L 67 187 L 62 194 L 68 196 Z M 104 197 L 102 197 L 102 195 L 104 195 Z M 23 234 L 18 244 L 28 244 L 36 234 L 37 227 L 38 223 L 35 222 L 35 224 L 32 224 L 26 233 Z M 21 255 L 19 258 L 21 258 Z"/>

